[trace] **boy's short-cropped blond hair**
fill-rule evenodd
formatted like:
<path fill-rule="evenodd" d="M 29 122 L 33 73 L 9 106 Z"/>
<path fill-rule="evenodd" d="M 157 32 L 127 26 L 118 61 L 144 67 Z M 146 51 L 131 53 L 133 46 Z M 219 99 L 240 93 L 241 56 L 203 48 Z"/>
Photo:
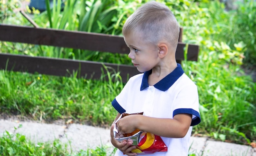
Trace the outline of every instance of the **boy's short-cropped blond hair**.
<path fill-rule="evenodd" d="M 180 27 L 171 10 L 164 4 L 151 1 L 143 4 L 126 20 L 123 35 L 140 33 L 148 42 L 165 40 L 177 48 Z"/>

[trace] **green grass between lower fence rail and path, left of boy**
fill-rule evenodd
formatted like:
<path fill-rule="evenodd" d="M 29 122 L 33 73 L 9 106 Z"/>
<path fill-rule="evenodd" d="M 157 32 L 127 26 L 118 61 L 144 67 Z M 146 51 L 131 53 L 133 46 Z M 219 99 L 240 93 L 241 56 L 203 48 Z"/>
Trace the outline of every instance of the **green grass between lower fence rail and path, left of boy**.
<path fill-rule="evenodd" d="M 92 125 L 109 125 L 115 118 L 110 103 L 121 91 L 117 82 L 0 71 L 0 111 L 32 116 L 36 120 L 73 118 Z M 113 77 L 114 76 L 114 77 Z"/>

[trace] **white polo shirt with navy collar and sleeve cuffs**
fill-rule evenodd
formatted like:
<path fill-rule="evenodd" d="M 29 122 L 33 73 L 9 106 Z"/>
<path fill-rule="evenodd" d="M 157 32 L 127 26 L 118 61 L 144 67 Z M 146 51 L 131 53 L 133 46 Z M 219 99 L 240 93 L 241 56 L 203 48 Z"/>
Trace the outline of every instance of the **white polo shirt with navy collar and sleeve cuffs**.
<path fill-rule="evenodd" d="M 177 65 L 173 72 L 154 86 L 148 85 L 148 76 L 152 70 L 133 76 L 112 101 L 112 106 L 120 114 L 144 112 L 145 116 L 155 118 L 173 118 L 177 114 L 192 114 L 191 127 L 184 138 L 161 137 L 168 151 L 143 154 L 143 156 L 188 156 L 192 126 L 201 121 L 198 90 L 194 82 L 184 74 L 181 65 Z M 124 154 L 118 149 L 115 156 L 124 156 Z"/>

